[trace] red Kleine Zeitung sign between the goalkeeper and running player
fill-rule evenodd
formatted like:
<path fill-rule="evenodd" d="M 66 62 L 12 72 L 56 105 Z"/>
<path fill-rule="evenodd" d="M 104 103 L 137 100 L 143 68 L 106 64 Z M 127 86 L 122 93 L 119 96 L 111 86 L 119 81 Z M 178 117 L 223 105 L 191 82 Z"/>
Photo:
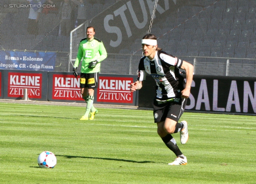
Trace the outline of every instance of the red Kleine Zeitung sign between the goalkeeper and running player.
<path fill-rule="evenodd" d="M 133 78 L 127 77 L 99 77 L 97 102 L 133 103 L 130 84 Z"/>

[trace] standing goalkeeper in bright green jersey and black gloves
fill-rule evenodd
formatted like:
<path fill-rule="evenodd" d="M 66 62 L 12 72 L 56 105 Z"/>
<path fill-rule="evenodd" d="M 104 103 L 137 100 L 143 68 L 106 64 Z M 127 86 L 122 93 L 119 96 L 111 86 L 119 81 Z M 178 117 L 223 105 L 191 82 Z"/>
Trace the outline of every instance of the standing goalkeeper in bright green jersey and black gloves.
<path fill-rule="evenodd" d="M 107 52 L 102 43 L 94 37 L 95 29 L 90 26 L 86 28 L 86 38 L 80 41 L 73 74 L 78 76 L 77 67 L 82 60 L 80 74 L 80 88 L 83 99 L 86 101 L 86 112 L 80 120 L 94 119 L 98 111 L 93 106 L 94 89 L 98 87 L 98 73 L 100 63 L 106 59 Z M 90 115 L 90 116 L 89 116 Z"/>

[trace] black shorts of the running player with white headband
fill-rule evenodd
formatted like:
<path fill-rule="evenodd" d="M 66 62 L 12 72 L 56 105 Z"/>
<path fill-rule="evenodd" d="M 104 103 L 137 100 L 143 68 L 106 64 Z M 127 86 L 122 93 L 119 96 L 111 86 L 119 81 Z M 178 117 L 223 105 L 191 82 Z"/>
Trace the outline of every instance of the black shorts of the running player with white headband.
<path fill-rule="evenodd" d="M 155 123 L 165 121 L 166 117 L 178 122 L 186 107 L 187 99 L 181 98 L 179 102 L 167 102 L 158 104 L 154 99 L 154 120 Z"/>

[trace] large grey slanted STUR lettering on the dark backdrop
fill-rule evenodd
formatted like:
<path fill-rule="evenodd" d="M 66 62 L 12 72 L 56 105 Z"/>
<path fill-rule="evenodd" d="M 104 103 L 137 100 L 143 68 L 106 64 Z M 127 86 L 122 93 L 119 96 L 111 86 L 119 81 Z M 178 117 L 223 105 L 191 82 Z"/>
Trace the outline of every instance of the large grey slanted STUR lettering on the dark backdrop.
<path fill-rule="evenodd" d="M 115 10 L 113 12 L 114 15 L 113 14 L 109 14 L 109 15 L 105 16 L 105 18 L 104 18 L 104 28 L 105 28 L 105 31 L 108 32 L 108 33 L 114 33 L 117 36 L 116 41 L 113 41 L 113 40 L 110 41 L 110 46 L 118 47 L 122 43 L 122 31 L 121 31 L 120 27 L 111 26 L 110 23 L 109 23 L 110 21 L 113 22 L 115 20 L 118 20 L 118 18 L 116 18 L 116 17 L 120 16 L 120 18 L 122 20 L 122 23 L 123 23 L 123 26 L 124 26 L 124 28 L 126 30 L 127 37 L 131 37 L 132 36 L 132 31 L 131 31 L 130 25 L 128 23 L 128 19 L 131 18 L 133 23 L 134 23 L 134 25 L 138 29 L 143 29 L 147 25 L 148 17 L 149 16 L 151 17 L 152 12 L 154 10 L 155 0 L 146 0 L 147 6 L 148 6 L 148 9 L 149 9 L 150 12 L 147 12 L 146 4 L 145 4 L 144 0 L 139 0 L 138 2 L 140 3 L 140 5 L 138 5 L 138 6 L 140 6 L 142 14 L 143 14 L 142 22 L 138 21 L 138 18 L 136 16 L 135 12 L 134 12 L 134 8 L 132 6 L 131 1 L 128 1 L 126 4 L 122 5 L 120 8 Z M 176 0 L 173 0 L 173 2 L 176 4 Z M 136 8 L 137 8 L 137 6 L 136 6 Z M 169 10 L 169 8 L 170 8 L 169 0 L 164 0 L 164 8 L 161 7 L 158 4 L 156 6 L 156 11 L 159 14 L 163 14 L 164 12 Z M 125 13 L 125 11 L 127 9 L 129 10 L 130 14 Z M 116 18 L 115 20 L 114 20 L 114 16 Z M 118 23 L 111 23 L 111 24 L 120 25 Z"/>

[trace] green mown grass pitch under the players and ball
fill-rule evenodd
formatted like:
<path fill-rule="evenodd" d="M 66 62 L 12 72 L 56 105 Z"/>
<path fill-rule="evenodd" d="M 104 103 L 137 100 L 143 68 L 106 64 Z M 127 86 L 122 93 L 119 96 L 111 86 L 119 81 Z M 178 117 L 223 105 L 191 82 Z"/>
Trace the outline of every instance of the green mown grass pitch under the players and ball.
<path fill-rule="evenodd" d="M 255 116 L 185 112 L 185 166 L 156 133 L 152 111 L 0 103 L 1 184 L 255 184 Z M 53 169 L 37 157 L 51 151 Z"/>

